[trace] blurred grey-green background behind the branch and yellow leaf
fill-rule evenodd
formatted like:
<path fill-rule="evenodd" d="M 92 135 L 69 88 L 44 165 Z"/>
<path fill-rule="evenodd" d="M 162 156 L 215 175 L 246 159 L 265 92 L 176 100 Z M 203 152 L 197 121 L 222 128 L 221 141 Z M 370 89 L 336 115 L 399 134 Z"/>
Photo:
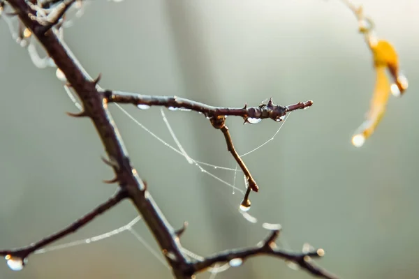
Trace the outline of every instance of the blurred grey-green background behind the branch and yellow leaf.
<path fill-rule="evenodd" d="M 100 3 L 103 2 L 103 3 Z M 274 140 L 244 158 L 258 185 L 245 220 L 240 193 L 189 165 L 128 119 L 111 111 L 133 165 L 174 227 L 199 255 L 255 245 L 263 222 L 283 226 L 279 244 L 325 249 L 318 260 L 341 278 L 418 278 L 419 248 L 419 3 L 362 3 L 380 38 L 399 53 L 409 79 L 403 98 L 390 98 L 376 133 L 356 149 L 351 136 L 364 120 L 374 87 L 372 56 L 355 17 L 338 0 L 91 1 L 65 30 L 87 71 L 107 89 L 176 95 L 210 105 L 281 105 L 314 100 L 293 112 Z M 40 70 L 0 20 L 0 248 L 15 248 L 56 232 L 105 201 L 115 185 L 101 162 L 103 146 L 55 77 Z M 159 108 L 124 106 L 175 145 Z M 223 135 L 195 112 L 169 112 L 189 156 L 235 167 Z M 239 153 L 269 140 L 279 123 L 242 125 L 228 118 Z M 233 172 L 207 168 L 233 183 Z M 243 188 L 242 176 L 237 187 Z M 66 237 L 102 234 L 135 218 L 129 202 Z M 152 248 L 141 221 L 134 226 Z M 171 278 L 170 271 L 129 232 L 91 244 L 31 255 L 23 271 L 0 264 L 0 278 Z M 210 278 L 210 273 L 198 275 Z M 221 278 L 311 278 L 281 259 L 258 257 Z"/>

